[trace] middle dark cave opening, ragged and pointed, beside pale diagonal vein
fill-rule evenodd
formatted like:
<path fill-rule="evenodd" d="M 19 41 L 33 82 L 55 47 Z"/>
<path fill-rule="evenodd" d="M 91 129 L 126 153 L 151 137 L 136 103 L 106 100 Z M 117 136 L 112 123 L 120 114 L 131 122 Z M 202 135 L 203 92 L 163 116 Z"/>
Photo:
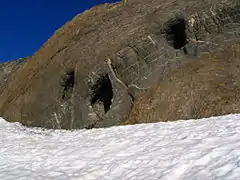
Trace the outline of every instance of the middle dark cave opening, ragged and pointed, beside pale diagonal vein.
<path fill-rule="evenodd" d="M 92 87 L 91 105 L 99 101 L 103 104 L 104 112 L 107 113 L 112 105 L 113 88 L 108 74 L 101 76 Z"/>

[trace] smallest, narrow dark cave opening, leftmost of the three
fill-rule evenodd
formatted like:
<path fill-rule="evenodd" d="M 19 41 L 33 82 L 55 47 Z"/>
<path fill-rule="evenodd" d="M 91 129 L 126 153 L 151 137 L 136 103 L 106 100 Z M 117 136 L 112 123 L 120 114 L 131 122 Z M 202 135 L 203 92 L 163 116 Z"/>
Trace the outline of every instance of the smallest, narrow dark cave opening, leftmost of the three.
<path fill-rule="evenodd" d="M 74 70 L 69 70 L 62 78 L 61 86 L 63 87 L 62 99 L 65 99 L 70 93 L 73 92 L 75 82 Z"/>

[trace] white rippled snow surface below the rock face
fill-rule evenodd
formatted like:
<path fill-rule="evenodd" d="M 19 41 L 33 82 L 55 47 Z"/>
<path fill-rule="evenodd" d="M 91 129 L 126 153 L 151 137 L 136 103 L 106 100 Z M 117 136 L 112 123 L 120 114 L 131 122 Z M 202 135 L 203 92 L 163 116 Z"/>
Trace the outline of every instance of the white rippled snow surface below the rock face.
<path fill-rule="evenodd" d="M 240 179 L 240 115 L 93 130 L 0 119 L 0 179 Z"/>

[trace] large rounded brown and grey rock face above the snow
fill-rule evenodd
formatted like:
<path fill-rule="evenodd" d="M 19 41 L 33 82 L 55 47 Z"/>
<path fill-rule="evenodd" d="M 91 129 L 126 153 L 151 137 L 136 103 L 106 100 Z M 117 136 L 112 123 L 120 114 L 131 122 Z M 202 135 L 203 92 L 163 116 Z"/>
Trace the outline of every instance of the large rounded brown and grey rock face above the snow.
<path fill-rule="evenodd" d="M 100 5 L 1 85 L 0 116 L 73 129 L 239 113 L 239 40 L 238 0 Z"/>

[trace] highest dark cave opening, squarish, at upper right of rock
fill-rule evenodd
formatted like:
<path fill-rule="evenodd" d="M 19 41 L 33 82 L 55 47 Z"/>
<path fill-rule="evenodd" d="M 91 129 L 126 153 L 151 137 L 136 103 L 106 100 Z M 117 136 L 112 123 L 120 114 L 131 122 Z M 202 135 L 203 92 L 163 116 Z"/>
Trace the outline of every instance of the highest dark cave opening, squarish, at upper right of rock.
<path fill-rule="evenodd" d="M 186 22 L 184 19 L 172 20 L 166 30 L 166 38 L 168 43 L 174 49 L 184 47 L 187 42 Z"/>

